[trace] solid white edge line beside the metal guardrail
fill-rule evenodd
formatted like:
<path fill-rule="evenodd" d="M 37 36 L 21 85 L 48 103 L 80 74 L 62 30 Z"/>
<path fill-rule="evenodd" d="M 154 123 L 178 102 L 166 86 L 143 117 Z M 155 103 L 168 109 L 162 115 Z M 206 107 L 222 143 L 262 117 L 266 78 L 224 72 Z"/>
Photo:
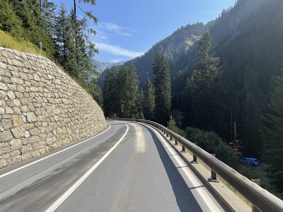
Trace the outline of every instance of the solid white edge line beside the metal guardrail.
<path fill-rule="evenodd" d="M 215 204 L 215 202 L 207 194 L 206 188 L 205 187 L 199 187 L 199 186 L 203 186 L 203 184 L 200 183 L 200 181 L 198 181 L 196 176 L 190 172 L 188 166 L 183 161 L 183 159 L 178 155 L 178 153 L 173 148 L 168 148 L 168 147 L 171 147 L 171 145 L 168 143 L 167 140 L 164 139 L 164 137 L 159 138 L 161 135 L 156 129 L 152 129 L 152 130 L 155 132 L 156 135 L 157 135 L 157 133 L 159 134 L 159 135 L 157 135 L 157 137 L 160 140 L 160 142 L 162 141 L 161 143 L 164 143 L 165 147 L 167 147 L 166 149 L 169 150 L 170 153 L 168 153 L 168 155 L 170 155 L 170 158 L 174 157 L 175 161 L 178 163 L 177 166 L 175 164 L 176 167 L 180 167 L 180 168 L 178 168 L 178 171 L 180 172 L 182 170 L 186 174 L 186 176 L 188 177 L 188 180 L 191 181 L 193 187 L 190 187 L 190 188 L 194 188 L 196 191 L 198 191 L 201 198 L 203 199 L 205 204 L 208 206 L 209 210 L 211 210 L 213 212 L 220 212 L 220 210 L 217 207 L 217 205 Z M 183 166 L 185 166 L 185 167 L 183 167 Z M 180 172 L 180 174 L 182 174 L 182 173 Z M 200 205 L 200 207 L 201 207 L 201 205 Z"/>

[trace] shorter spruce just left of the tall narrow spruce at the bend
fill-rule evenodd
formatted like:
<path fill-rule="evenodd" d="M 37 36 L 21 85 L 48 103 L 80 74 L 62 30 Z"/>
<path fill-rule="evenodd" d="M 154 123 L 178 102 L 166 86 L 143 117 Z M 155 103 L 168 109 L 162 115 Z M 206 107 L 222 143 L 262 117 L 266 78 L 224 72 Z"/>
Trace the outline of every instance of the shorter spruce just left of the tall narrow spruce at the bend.
<path fill-rule="evenodd" d="M 143 98 L 143 114 L 146 120 L 154 120 L 154 109 L 155 109 L 155 95 L 154 87 L 151 84 L 149 77 L 145 83 L 145 92 Z"/>

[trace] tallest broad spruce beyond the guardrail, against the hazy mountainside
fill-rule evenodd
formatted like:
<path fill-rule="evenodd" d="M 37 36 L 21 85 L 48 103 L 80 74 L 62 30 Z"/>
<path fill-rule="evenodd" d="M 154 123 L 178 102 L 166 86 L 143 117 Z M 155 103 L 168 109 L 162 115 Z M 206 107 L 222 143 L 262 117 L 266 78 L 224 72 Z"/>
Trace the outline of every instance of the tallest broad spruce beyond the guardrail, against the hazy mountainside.
<path fill-rule="evenodd" d="M 209 55 L 209 51 L 217 45 L 212 46 L 212 35 L 203 31 L 195 46 L 200 61 L 196 61 L 196 70 L 192 73 L 189 81 L 191 91 L 191 117 L 192 126 L 205 130 L 215 130 L 222 134 L 225 129 L 224 111 L 226 105 L 223 100 L 224 86 L 221 81 L 220 68 L 217 67 L 220 58 L 214 57 L 215 52 Z"/>

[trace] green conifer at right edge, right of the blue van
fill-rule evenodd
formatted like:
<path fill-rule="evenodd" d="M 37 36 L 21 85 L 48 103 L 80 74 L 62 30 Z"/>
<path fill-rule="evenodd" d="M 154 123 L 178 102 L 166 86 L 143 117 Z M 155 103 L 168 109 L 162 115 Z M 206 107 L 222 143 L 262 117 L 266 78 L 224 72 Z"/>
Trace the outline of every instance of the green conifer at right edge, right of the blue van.
<path fill-rule="evenodd" d="M 277 77 L 277 86 L 271 98 L 270 109 L 273 114 L 265 114 L 263 120 L 266 122 L 263 132 L 263 140 L 266 146 L 264 158 L 268 164 L 267 177 L 271 184 L 275 185 L 279 193 L 283 192 L 283 77 Z"/>

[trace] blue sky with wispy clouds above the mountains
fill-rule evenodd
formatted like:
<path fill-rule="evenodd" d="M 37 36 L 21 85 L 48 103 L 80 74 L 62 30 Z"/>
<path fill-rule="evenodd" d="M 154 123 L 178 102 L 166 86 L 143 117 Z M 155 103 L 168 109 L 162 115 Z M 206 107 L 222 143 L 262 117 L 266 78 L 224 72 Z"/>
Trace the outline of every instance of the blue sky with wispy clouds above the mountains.
<path fill-rule="evenodd" d="M 60 2 L 55 0 L 58 6 Z M 235 0 L 97 0 L 96 6 L 79 6 L 83 10 L 92 10 L 99 19 L 97 25 L 89 21 L 90 27 L 97 31 L 97 36 L 91 38 L 100 51 L 95 59 L 118 62 L 143 54 L 182 25 L 197 21 L 206 23 L 215 19 L 223 8 L 234 5 L 234 2 Z M 70 9 L 74 1 L 64 0 L 63 3 Z M 83 16 L 79 8 L 77 16 Z"/>

